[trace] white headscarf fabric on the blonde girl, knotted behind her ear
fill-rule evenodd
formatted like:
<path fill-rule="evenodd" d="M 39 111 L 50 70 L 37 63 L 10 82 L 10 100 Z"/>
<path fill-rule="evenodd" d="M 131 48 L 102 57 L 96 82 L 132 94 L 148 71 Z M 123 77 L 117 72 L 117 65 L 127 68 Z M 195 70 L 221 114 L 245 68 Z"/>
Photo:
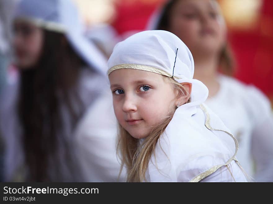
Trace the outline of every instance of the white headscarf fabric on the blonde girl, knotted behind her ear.
<path fill-rule="evenodd" d="M 190 106 L 201 104 L 208 97 L 208 88 L 202 82 L 192 79 L 194 61 L 189 48 L 168 31 L 143 31 L 118 43 L 108 60 L 108 69 L 121 64 L 150 66 L 164 70 L 171 76 L 174 71 L 173 76 L 180 78 L 176 79 L 179 83 L 192 83 Z"/>

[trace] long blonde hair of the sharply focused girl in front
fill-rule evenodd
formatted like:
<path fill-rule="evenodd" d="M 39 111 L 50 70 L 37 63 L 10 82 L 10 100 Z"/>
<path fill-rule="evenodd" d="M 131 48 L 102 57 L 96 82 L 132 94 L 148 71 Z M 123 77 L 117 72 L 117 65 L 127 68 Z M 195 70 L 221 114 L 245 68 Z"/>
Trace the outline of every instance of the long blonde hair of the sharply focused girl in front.
<path fill-rule="evenodd" d="M 163 79 L 169 80 L 173 84 L 173 87 L 178 90 L 179 95 L 190 97 L 188 91 L 171 77 L 163 76 Z M 186 102 L 188 103 L 190 99 Z M 145 173 L 148 168 L 148 164 L 160 135 L 163 134 L 169 122 L 172 120 L 173 111 L 161 122 L 154 127 L 151 133 L 144 139 L 143 143 L 139 142 L 139 139 L 133 138 L 121 125 L 119 125 L 119 142 L 117 151 L 120 153 L 122 161 L 121 170 L 123 167 L 127 168 L 127 182 L 143 182 L 146 181 Z M 155 155 L 154 155 L 155 156 Z"/>

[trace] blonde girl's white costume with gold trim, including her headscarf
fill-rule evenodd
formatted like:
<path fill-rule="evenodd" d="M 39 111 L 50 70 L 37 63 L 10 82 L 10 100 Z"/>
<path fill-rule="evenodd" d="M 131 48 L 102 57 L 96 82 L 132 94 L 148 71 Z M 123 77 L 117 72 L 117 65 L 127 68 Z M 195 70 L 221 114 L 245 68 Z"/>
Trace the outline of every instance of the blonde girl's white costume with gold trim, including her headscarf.
<path fill-rule="evenodd" d="M 138 69 L 192 84 L 191 101 L 178 107 L 151 156 L 150 182 L 246 182 L 235 158 L 238 143 L 222 121 L 202 103 L 207 87 L 192 79 L 190 50 L 174 34 L 144 31 L 118 43 L 108 61 L 108 74 Z"/>

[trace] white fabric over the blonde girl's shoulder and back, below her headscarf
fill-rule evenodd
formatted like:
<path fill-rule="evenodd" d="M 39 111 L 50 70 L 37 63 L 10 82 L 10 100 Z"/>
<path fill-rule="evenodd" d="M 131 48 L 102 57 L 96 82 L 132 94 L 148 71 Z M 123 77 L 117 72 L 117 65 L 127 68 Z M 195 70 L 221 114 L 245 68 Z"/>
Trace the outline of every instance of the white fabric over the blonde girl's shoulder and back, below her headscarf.
<path fill-rule="evenodd" d="M 213 128 L 229 130 L 207 108 Z M 224 132 L 208 130 L 204 112 L 199 107 L 179 107 L 165 133 L 156 145 L 155 156 L 149 162 L 150 182 L 189 182 L 213 166 L 225 164 L 235 152 L 233 139 Z M 166 156 L 166 155 L 167 156 Z M 155 165 L 156 164 L 156 165 Z M 227 170 L 226 166 L 222 171 Z M 242 170 L 231 163 L 230 170 L 236 182 L 247 182 Z M 234 182 L 230 173 L 213 173 L 207 182 Z"/>

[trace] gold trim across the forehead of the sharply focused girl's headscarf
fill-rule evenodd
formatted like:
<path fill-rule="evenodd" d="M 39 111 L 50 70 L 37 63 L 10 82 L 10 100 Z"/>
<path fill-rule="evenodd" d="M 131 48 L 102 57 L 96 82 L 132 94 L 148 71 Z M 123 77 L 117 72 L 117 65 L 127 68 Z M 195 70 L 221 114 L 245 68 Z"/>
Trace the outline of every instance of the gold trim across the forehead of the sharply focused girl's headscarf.
<path fill-rule="evenodd" d="M 171 74 L 169 74 L 168 72 L 159 69 L 159 68 L 155 68 L 155 67 L 151 67 L 151 66 L 146 66 L 146 65 L 137 65 L 137 64 L 121 64 L 121 65 L 116 65 L 113 66 L 110 70 L 108 70 L 108 75 L 114 71 L 114 70 L 119 70 L 119 69 L 136 69 L 136 70 L 144 70 L 144 71 L 150 71 L 150 72 L 154 72 L 156 74 L 160 74 L 160 75 L 164 75 L 164 76 L 168 76 L 168 77 L 172 77 Z M 178 77 L 173 77 L 175 79 L 180 79 Z"/>

